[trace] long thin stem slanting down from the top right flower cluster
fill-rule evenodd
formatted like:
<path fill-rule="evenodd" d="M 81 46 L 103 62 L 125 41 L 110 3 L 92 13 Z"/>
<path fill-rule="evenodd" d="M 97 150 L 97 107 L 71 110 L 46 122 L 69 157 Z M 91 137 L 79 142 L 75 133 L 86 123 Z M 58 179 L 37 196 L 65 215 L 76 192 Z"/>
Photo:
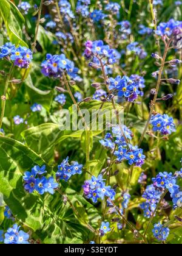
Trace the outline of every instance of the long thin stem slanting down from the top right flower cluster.
<path fill-rule="evenodd" d="M 154 96 L 153 101 L 152 101 L 151 106 L 150 106 L 149 118 L 147 119 L 146 126 L 144 127 L 143 133 L 141 135 L 141 138 L 140 138 L 140 141 L 139 141 L 139 146 L 140 146 L 141 142 L 143 141 L 144 135 L 146 134 L 146 130 L 147 130 L 147 128 L 149 126 L 149 123 L 150 123 L 150 118 L 152 116 L 153 110 L 155 109 L 155 104 L 156 104 L 156 101 L 157 101 L 158 91 L 159 91 L 160 84 L 161 84 L 161 77 L 162 77 L 162 74 L 163 74 L 163 69 L 164 69 L 166 56 L 167 56 L 167 52 L 169 50 L 170 43 L 171 43 L 171 40 L 168 41 L 168 43 L 166 44 L 165 50 L 164 50 L 163 60 L 162 60 L 162 63 L 161 63 L 160 71 L 158 73 L 158 80 L 157 80 L 157 85 L 156 85 L 156 89 L 155 89 L 155 96 Z"/>

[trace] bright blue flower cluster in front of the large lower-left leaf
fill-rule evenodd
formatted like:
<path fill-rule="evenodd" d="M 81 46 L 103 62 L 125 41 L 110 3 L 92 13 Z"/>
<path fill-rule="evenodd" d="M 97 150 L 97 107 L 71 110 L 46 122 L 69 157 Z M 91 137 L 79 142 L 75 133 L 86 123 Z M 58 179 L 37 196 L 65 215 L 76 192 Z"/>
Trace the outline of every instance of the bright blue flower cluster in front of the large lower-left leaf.
<path fill-rule="evenodd" d="M 39 194 L 44 194 L 48 192 L 50 194 L 54 194 L 56 188 L 58 188 L 58 183 L 54 181 L 53 177 L 49 177 L 48 179 L 42 174 L 47 173 L 45 171 L 45 165 L 38 166 L 35 165 L 31 172 L 26 171 L 23 179 L 25 182 L 24 188 L 29 193 L 33 193 L 33 191 L 37 191 Z"/>

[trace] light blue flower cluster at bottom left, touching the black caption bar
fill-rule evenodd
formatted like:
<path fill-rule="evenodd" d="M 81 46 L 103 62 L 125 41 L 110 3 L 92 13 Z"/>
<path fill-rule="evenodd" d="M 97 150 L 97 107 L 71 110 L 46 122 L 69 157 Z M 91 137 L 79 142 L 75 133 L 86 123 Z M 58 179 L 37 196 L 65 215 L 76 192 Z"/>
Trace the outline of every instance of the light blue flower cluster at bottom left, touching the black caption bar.
<path fill-rule="evenodd" d="M 10 227 L 5 233 L 5 244 L 29 244 L 29 234 L 25 233 L 22 230 L 19 230 L 20 227 L 17 224 L 14 224 L 13 227 Z"/>

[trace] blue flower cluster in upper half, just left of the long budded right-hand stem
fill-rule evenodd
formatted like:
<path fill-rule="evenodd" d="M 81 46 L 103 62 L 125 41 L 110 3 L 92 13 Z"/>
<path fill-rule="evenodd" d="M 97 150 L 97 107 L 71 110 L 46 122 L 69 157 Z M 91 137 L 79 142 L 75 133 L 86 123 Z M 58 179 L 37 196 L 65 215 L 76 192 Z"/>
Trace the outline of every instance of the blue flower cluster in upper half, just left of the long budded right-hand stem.
<path fill-rule="evenodd" d="M 127 76 L 117 76 L 116 78 L 110 77 L 109 79 L 109 90 L 113 93 L 118 93 L 118 98 L 126 99 L 126 101 L 133 102 L 138 96 L 143 96 L 144 79 L 138 75 Z"/>

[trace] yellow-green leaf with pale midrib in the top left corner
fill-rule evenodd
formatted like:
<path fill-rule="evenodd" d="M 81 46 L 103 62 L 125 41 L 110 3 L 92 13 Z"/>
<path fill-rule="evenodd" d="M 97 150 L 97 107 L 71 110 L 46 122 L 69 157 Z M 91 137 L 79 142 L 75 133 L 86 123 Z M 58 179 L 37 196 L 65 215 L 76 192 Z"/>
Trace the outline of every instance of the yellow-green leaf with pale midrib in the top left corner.
<path fill-rule="evenodd" d="M 25 23 L 25 20 L 16 5 L 11 1 L 1 0 L 0 13 L 10 41 L 16 45 L 20 44 L 27 47 L 27 44 L 22 40 L 22 25 Z"/>

